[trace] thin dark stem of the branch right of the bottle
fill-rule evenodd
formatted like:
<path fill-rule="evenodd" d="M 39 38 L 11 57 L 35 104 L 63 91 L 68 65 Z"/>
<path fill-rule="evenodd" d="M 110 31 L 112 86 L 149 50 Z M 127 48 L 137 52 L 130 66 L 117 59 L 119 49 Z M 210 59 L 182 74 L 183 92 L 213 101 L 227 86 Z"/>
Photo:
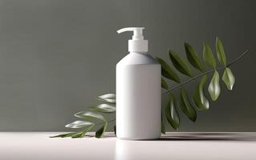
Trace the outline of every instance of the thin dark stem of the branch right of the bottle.
<path fill-rule="evenodd" d="M 215 69 L 213 69 L 213 70 L 205 71 L 205 72 L 203 72 L 203 73 L 197 75 L 196 77 L 190 78 L 190 79 L 186 80 L 185 82 L 181 82 L 181 83 L 180 83 L 179 85 L 177 85 L 177 86 L 173 86 L 173 88 L 171 88 L 171 89 L 169 89 L 169 90 L 166 90 L 166 91 L 165 91 L 164 93 L 162 93 L 162 94 L 168 94 L 168 93 L 171 92 L 172 90 L 174 90 L 174 89 L 176 89 L 176 88 L 178 88 L 178 87 L 180 87 L 180 86 L 183 86 L 183 85 L 185 85 L 186 83 L 188 83 L 188 82 L 190 82 L 190 81 L 193 81 L 193 80 L 195 80 L 195 79 L 197 79 L 197 78 L 200 78 L 201 76 L 203 76 L 203 75 L 205 75 L 205 74 L 209 74 L 209 73 L 211 73 L 211 72 L 213 72 L 213 71 L 215 71 L 215 70 L 222 70 L 222 69 L 224 69 L 224 68 L 226 68 L 226 67 L 228 67 L 228 66 L 231 66 L 231 65 L 234 64 L 234 62 L 237 62 L 238 59 L 242 58 L 242 57 L 243 57 L 244 55 L 246 55 L 247 53 L 248 53 L 248 50 L 244 51 L 241 55 L 238 56 L 238 58 L 235 58 L 235 59 L 234 59 L 232 62 L 230 62 L 230 64 L 228 64 L 227 66 L 221 66 L 221 67 L 217 67 L 217 68 L 215 68 Z"/>

